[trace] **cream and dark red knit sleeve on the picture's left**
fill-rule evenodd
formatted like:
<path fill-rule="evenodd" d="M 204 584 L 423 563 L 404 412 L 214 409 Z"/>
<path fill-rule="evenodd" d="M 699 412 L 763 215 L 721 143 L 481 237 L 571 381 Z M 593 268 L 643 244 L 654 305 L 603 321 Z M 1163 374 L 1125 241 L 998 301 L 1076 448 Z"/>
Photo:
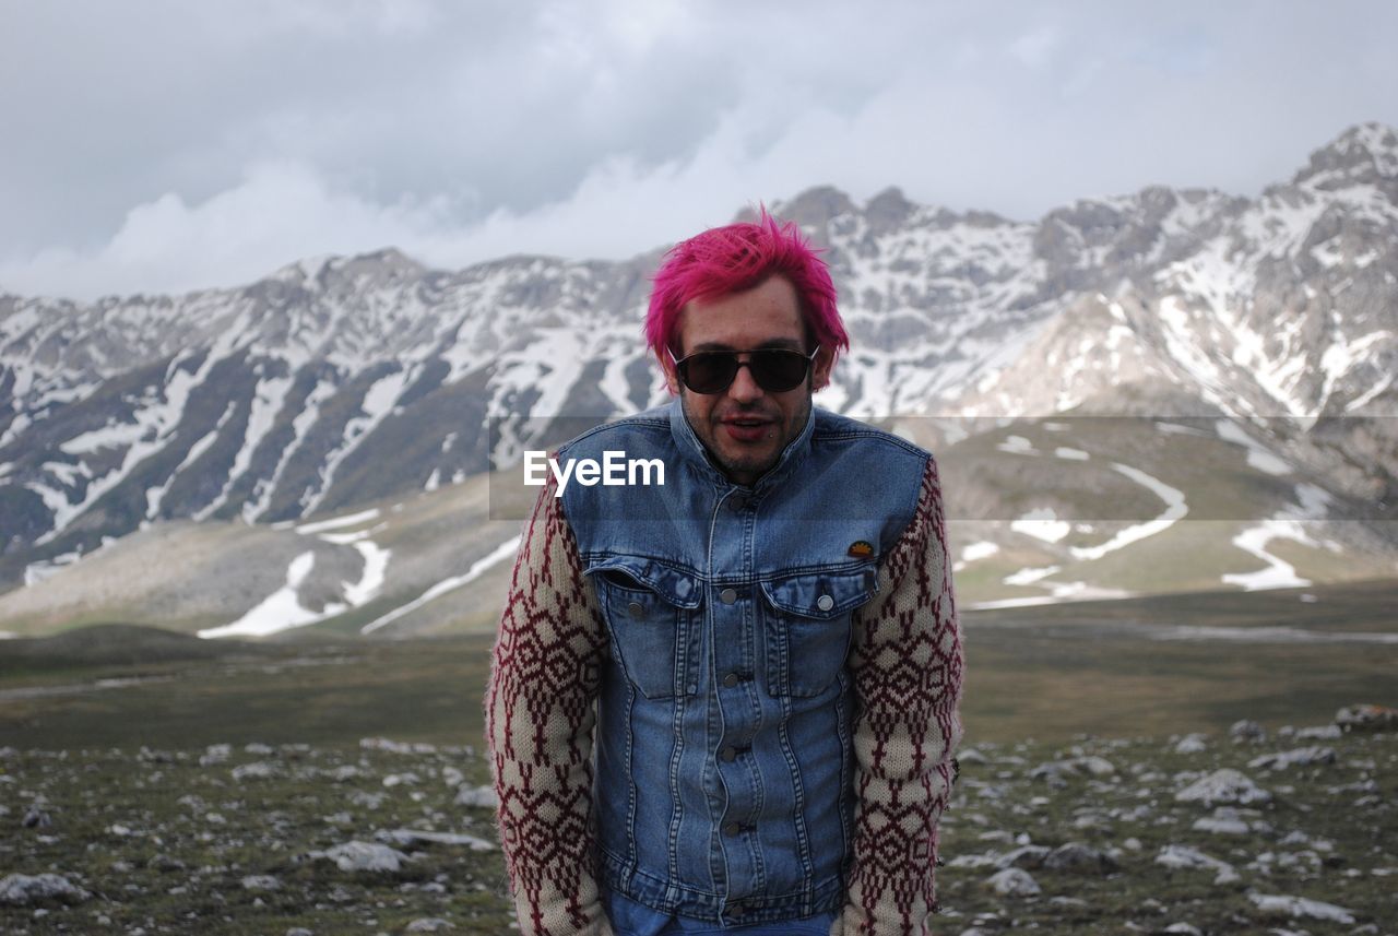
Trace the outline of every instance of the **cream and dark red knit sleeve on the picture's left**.
<path fill-rule="evenodd" d="M 524 522 L 485 694 L 500 847 L 526 936 L 611 936 L 597 891 L 593 703 L 605 630 L 549 482 Z"/>

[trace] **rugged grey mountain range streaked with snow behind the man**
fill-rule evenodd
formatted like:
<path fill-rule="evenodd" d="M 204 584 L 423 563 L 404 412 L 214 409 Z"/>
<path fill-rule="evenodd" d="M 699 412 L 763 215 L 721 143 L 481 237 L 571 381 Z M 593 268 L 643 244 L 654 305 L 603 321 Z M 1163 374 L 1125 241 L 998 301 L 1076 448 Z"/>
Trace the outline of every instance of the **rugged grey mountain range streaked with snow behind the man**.
<path fill-rule="evenodd" d="M 1311 518 L 1398 503 L 1390 127 L 1345 131 L 1257 198 L 1152 187 L 1022 222 L 826 187 L 774 212 L 828 247 L 840 289 L 853 351 L 825 407 L 953 461 L 1015 434 L 967 418 L 1019 419 L 1021 439 L 1054 414 L 1226 418 L 1219 446 L 1324 493 Z M 447 488 L 488 468 L 492 418 L 527 439 L 663 401 L 640 338 L 658 256 L 440 271 L 384 250 L 185 296 L 0 296 L 0 590 L 161 521 L 305 528 Z M 1016 478 L 963 515 L 1019 518 Z M 1360 538 L 1391 571 L 1383 536 Z"/>

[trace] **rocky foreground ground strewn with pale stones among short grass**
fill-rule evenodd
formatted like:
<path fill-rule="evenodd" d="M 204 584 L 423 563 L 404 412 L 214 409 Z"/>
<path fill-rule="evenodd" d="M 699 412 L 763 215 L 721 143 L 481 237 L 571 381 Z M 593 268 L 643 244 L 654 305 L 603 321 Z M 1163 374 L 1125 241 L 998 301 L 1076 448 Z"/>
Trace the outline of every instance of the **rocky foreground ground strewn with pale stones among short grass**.
<path fill-rule="evenodd" d="M 935 932 L 1395 933 L 1398 733 L 967 745 Z M 470 747 L 0 747 L 0 932 L 506 933 Z"/>

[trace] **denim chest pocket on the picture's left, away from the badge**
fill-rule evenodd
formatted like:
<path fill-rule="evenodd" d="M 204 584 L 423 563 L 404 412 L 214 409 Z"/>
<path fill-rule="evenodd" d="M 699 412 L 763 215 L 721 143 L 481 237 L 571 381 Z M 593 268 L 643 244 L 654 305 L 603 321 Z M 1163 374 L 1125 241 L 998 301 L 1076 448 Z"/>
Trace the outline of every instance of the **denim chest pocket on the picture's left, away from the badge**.
<path fill-rule="evenodd" d="M 646 699 L 688 696 L 698 665 L 691 648 L 698 581 L 654 563 L 615 560 L 587 574 L 626 679 Z"/>

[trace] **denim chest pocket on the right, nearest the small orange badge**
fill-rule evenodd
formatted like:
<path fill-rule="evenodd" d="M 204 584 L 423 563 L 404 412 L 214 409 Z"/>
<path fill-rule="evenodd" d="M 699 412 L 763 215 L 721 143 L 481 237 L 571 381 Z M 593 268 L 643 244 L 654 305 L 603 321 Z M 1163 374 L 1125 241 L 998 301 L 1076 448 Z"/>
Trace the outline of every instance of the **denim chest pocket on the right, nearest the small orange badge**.
<path fill-rule="evenodd" d="M 762 583 L 768 687 L 773 696 L 819 696 L 850 651 L 854 609 L 878 591 L 872 566 Z"/>

